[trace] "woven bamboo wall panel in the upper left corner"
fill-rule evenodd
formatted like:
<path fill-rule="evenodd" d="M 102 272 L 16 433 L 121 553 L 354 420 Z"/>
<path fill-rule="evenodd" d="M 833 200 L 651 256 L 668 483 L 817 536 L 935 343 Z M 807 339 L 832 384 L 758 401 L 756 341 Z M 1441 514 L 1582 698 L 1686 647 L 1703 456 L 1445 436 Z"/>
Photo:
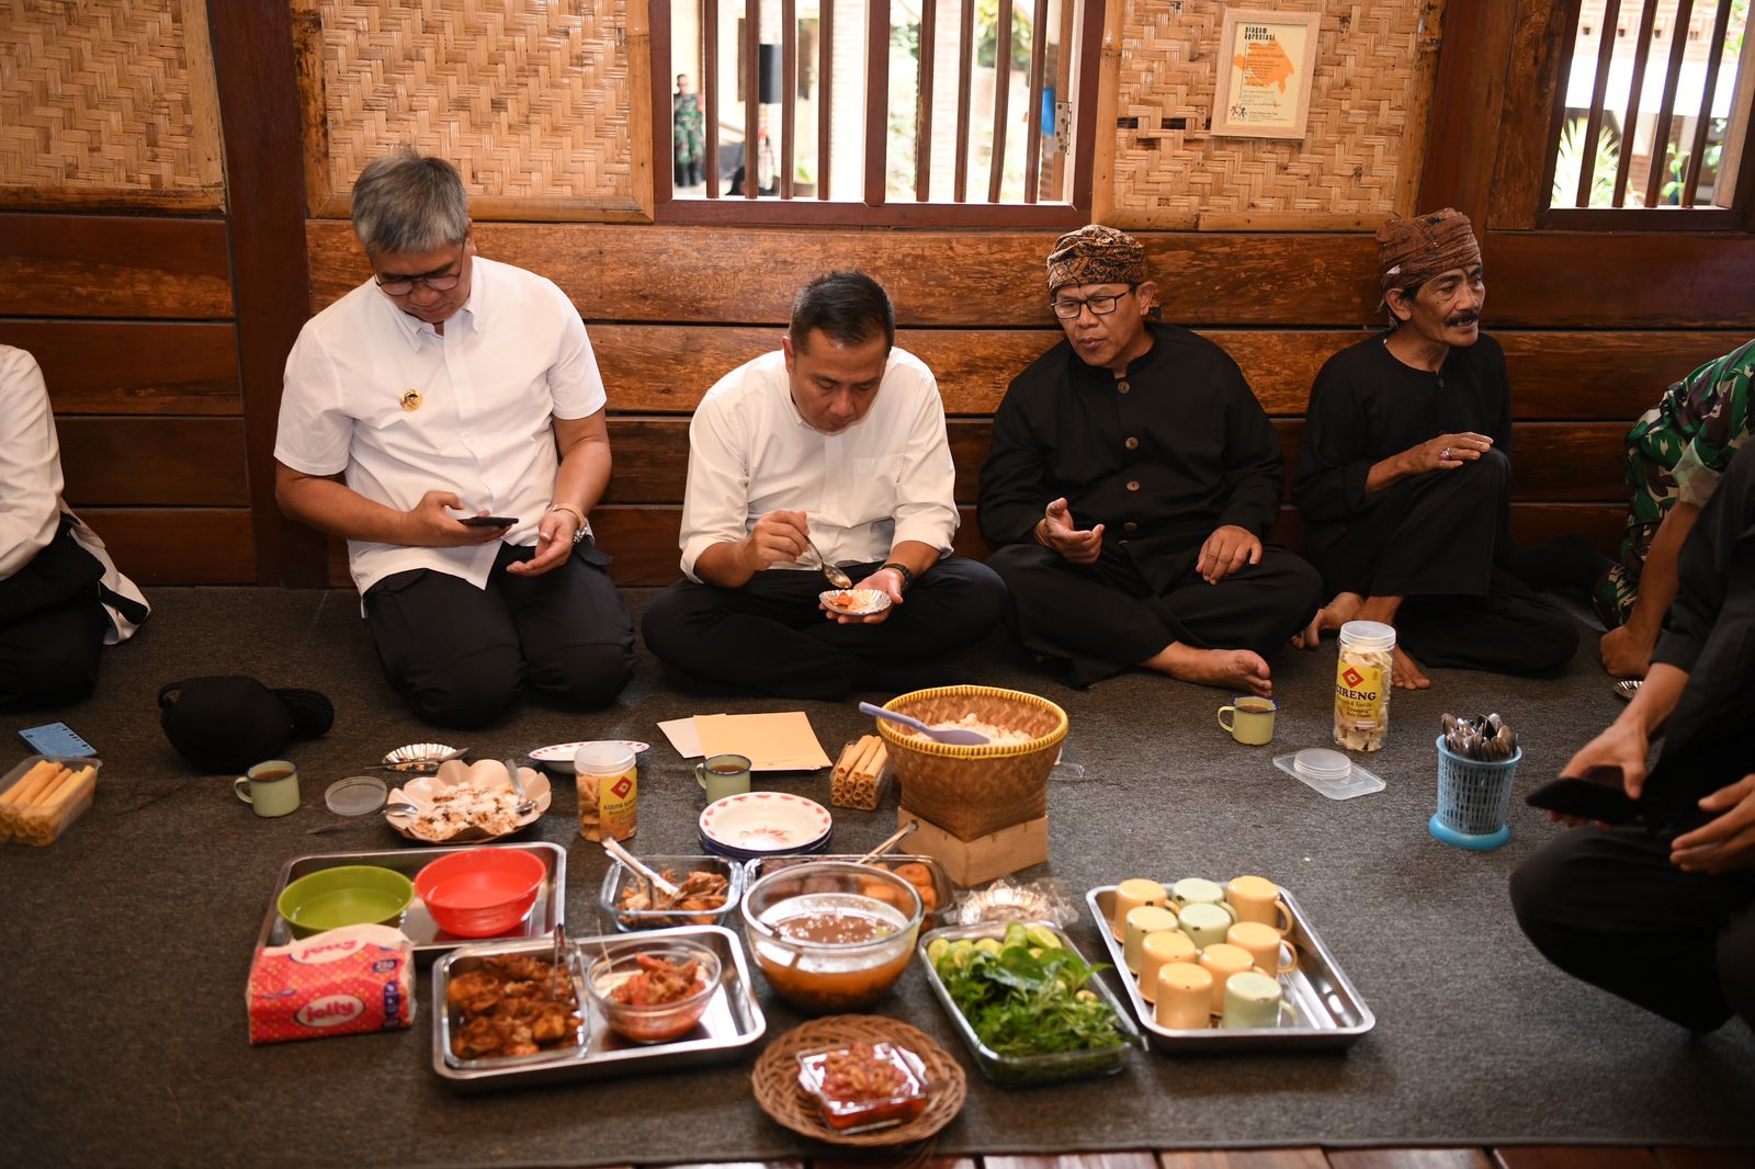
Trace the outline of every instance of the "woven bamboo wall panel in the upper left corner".
<path fill-rule="evenodd" d="M 225 205 L 205 0 L 4 0 L 0 207 Z"/>

